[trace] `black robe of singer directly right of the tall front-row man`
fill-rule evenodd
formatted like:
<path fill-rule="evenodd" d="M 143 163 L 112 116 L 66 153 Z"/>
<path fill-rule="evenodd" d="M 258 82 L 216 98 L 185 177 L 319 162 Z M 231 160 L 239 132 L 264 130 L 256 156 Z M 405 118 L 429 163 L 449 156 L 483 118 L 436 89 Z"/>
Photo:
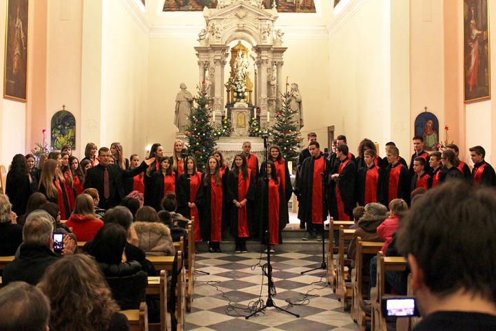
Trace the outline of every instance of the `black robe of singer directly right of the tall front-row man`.
<path fill-rule="evenodd" d="M 340 164 L 346 162 L 347 160 L 349 160 L 349 158 L 338 161 L 334 169 L 335 172 L 329 173 L 328 174 L 329 176 L 327 178 L 329 179 L 332 174 L 337 174 L 339 172 Z M 349 160 L 349 162 L 346 165 L 344 165 L 344 168 L 342 169 L 340 175 L 336 177 L 335 180 L 329 181 L 330 183 L 329 188 L 331 188 L 331 191 L 328 194 L 329 214 L 331 214 L 331 216 L 335 220 L 342 221 L 338 216 L 338 197 L 337 197 L 336 188 L 339 188 L 340 191 L 341 200 L 344 206 L 344 213 L 347 214 L 350 219 L 353 219 L 353 208 L 355 208 L 356 206 L 355 177 L 356 177 L 356 165 L 352 160 Z"/>

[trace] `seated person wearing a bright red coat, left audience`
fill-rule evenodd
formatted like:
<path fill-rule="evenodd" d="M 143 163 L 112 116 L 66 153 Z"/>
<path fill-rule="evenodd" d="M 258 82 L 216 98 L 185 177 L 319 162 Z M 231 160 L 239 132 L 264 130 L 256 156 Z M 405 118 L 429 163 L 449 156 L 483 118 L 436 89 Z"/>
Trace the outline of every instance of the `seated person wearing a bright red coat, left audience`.
<path fill-rule="evenodd" d="M 103 226 L 103 221 L 94 214 L 93 199 L 88 194 L 80 194 L 76 198 L 76 206 L 71 217 L 65 223 L 79 241 L 90 241 Z"/>

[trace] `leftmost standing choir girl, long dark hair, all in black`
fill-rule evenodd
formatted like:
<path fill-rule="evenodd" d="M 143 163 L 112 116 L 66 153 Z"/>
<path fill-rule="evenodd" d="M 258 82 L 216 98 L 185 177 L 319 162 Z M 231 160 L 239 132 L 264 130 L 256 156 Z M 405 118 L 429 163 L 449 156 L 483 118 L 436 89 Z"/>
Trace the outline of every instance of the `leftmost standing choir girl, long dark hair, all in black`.
<path fill-rule="evenodd" d="M 23 154 L 16 154 L 6 178 L 6 194 L 12 204 L 12 212 L 23 215 L 32 192 L 26 159 Z"/>

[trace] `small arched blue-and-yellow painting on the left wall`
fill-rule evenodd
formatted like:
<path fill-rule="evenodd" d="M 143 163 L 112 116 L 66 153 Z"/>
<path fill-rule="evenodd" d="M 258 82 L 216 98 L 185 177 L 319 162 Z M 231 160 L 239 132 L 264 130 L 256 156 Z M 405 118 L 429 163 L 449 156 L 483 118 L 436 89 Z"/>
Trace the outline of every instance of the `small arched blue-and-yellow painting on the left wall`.
<path fill-rule="evenodd" d="M 66 143 L 76 148 L 76 119 L 67 110 L 60 110 L 52 117 L 51 146 L 60 150 Z"/>

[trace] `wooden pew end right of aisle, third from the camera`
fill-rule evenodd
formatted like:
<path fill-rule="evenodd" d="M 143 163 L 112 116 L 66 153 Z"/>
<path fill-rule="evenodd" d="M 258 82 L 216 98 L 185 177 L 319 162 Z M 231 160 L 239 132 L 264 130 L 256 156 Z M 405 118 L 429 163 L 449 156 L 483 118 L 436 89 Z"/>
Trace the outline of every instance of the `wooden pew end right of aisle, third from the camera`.
<path fill-rule="evenodd" d="M 340 225 L 338 268 L 336 268 L 336 294 L 338 295 L 338 300 L 341 301 L 344 310 L 349 308 L 347 300 L 351 299 L 353 294 L 351 284 L 347 284 L 347 275 L 344 272 L 344 266 L 351 265 L 350 259 L 344 259 L 344 241 L 353 239 L 353 234 L 355 234 L 355 230 L 344 230 L 344 226 Z"/>

